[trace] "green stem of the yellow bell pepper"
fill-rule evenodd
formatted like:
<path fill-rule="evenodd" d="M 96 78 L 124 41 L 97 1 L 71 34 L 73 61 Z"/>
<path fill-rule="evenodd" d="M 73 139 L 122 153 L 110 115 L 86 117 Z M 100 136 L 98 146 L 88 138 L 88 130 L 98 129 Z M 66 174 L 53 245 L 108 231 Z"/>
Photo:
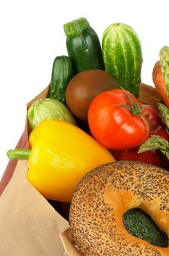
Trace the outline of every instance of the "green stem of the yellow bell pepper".
<path fill-rule="evenodd" d="M 17 148 L 17 149 L 9 149 L 7 151 L 7 157 L 12 159 L 28 159 L 31 154 L 31 149 L 29 148 Z"/>

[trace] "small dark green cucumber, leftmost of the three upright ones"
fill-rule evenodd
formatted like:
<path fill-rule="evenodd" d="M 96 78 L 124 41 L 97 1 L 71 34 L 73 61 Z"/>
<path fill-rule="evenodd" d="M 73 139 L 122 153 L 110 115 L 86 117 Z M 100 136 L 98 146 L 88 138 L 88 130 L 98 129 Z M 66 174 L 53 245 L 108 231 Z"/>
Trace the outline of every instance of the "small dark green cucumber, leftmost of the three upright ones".
<path fill-rule="evenodd" d="M 52 65 L 52 76 L 48 97 L 66 104 L 65 92 L 74 72 L 68 56 L 58 56 Z"/>

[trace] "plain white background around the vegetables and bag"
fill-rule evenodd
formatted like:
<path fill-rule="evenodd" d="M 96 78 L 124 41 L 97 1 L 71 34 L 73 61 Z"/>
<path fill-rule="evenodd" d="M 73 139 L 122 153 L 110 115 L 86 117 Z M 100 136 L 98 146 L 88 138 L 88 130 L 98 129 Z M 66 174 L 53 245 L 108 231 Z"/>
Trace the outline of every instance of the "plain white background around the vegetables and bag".
<path fill-rule="evenodd" d="M 85 17 L 102 39 L 111 23 L 127 23 L 141 39 L 142 81 L 153 86 L 152 68 L 169 45 L 168 0 L 0 1 L 0 178 L 6 152 L 25 125 L 25 105 L 50 83 L 55 56 L 67 55 L 63 24 Z"/>

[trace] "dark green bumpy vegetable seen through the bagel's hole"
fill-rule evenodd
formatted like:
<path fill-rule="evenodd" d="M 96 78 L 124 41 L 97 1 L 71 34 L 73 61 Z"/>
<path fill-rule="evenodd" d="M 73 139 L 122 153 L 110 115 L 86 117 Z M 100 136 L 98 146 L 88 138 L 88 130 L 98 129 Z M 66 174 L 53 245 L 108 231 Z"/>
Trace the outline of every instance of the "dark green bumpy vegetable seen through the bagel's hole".
<path fill-rule="evenodd" d="M 160 230 L 149 214 L 140 208 L 133 208 L 123 214 L 123 224 L 128 233 L 141 238 L 149 244 L 168 247 L 168 236 Z"/>

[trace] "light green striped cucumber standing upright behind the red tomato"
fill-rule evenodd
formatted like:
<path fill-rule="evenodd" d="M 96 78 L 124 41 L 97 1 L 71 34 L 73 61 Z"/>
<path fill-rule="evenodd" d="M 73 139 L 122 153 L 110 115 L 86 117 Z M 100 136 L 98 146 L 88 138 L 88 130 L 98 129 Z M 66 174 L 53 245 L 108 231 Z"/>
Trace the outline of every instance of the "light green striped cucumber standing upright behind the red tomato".
<path fill-rule="evenodd" d="M 138 35 L 124 23 L 113 23 L 103 32 L 102 49 L 106 72 L 138 98 L 143 62 Z"/>

